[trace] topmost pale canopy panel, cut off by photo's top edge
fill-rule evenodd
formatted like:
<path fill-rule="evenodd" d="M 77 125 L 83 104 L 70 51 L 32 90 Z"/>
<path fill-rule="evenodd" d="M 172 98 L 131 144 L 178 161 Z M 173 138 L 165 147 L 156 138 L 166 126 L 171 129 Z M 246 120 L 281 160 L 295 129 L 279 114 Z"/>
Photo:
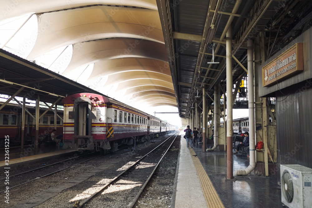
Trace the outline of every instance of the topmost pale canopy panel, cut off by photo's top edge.
<path fill-rule="evenodd" d="M 48 12 L 94 4 L 143 7 L 157 11 L 155 0 L 3 0 L 0 4 L 0 11 L 2 11 L 0 12 L 0 21 L 31 13 Z"/>

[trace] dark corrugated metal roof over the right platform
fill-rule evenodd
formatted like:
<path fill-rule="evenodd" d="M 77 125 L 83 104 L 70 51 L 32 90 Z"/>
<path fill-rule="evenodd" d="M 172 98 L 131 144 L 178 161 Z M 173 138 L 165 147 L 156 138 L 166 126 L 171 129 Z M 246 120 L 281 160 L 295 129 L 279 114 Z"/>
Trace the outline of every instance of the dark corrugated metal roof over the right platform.
<path fill-rule="evenodd" d="M 211 12 L 209 10 L 209 4 L 211 4 L 211 8 L 214 9 L 215 5 L 213 4 L 216 4 L 218 1 L 184 0 L 178 2 L 178 5 L 175 5 L 173 0 L 170 0 L 169 2 L 171 5 L 170 13 L 172 14 L 172 28 L 174 32 L 194 34 L 202 36 L 202 38 L 206 38 L 203 36 L 203 33 L 205 31 L 205 25 L 207 24 L 207 14 L 208 12 Z M 218 13 L 216 16 L 216 30 L 215 34 L 213 35 L 213 40 L 219 40 L 222 34 L 225 34 L 224 28 L 227 25 L 227 21 L 230 17 L 229 13 L 232 13 L 236 1 L 224 1 L 222 3 L 223 4 L 221 4 L 220 7 L 217 8 L 220 13 Z M 254 40 L 261 31 L 264 31 L 264 45 L 265 47 L 269 47 L 269 49 L 266 50 L 271 51 L 273 45 L 272 52 L 268 52 L 268 54 L 266 54 L 272 56 L 274 53 L 282 48 L 281 46 L 284 46 L 285 44 L 288 44 L 291 40 L 293 40 L 294 34 L 300 34 L 300 29 L 298 29 L 298 27 L 295 27 L 300 19 L 305 21 L 308 19 L 310 23 L 307 22 L 309 24 L 307 24 L 306 27 L 311 27 L 311 20 L 308 18 L 312 16 L 310 15 L 311 8 L 311 1 L 242 1 L 236 12 L 236 14 L 241 15 L 241 17 L 235 16 L 231 23 L 232 39 L 237 41 L 236 44 L 240 43 L 239 41 L 243 41 L 242 44 L 239 46 L 233 45 L 233 51 L 235 52 L 234 56 L 241 62 L 242 65 L 244 65 L 245 68 L 247 68 L 246 41 Z M 211 18 L 212 16 L 210 16 L 210 19 L 208 19 L 208 21 L 211 20 Z M 279 28 L 280 24 L 281 27 Z M 210 25 L 208 24 L 207 26 L 209 28 Z M 293 34 L 288 34 L 294 28 L 295 32 L 293 32 Z M 278 29 L 280 30 L 278 31 Z M 246 36 L 242 36 L 245 31 L 249 31 L 249 33 L 246 33 Z M 208 35 L 209 32 L 211 31 L 208 30 Z M 274 40 L 275 36 L 277 37 L 276 40 Z M 199 89 L 198 94 L 200 94 L 200 96 L 202 97 L 201 86 L 203 84 L 210 84 L 206 85 L 206 89 L 211 97 L 213 97 L 214 85 L 226 84 L 224 82 L 224 80 L 226 79 L 226 51 L 223 46 L 219 46 L 219 48 L 217 49 L 218 42 L 216 42 L 214 47 L 214 61 L 220 62 L 220 64 L 211 65 L 207 64 L 207 62 L 210 62 L 212 60 L 211 43 L 207 43 L 207 46 L 210 47 L 207 47 L 206 51 L 199 51 L 204 48 L 204 45 L 202 45 L 202 43 L 199 41 L 194 41 L 193 44 L 185 50 L 181 50 L 181 48 L 183 48 L 183 44 L 185 44 L 189 40 L 173 39 L 172 41 L 174 43 L 174 51 L 176 53 L 175 63 L 177 68 L 177 77 L 173 79 L 176 80 L 173 84 L 175 85 L 176 89 L 177 101 L 179 103 L 179 112 L 180 115 L 183 117 L 186 115 L 186 113 L 188 113 L 187 111 L 190 109 L 191 103 L 194 102 L 195 99 L 193 98 L 193 96 L 196 96 L 195 93 L 197 93 L 197 89 Z M 221 41 L 225 41 L 225 39 Z M 200 63 L 200 57 L 202 56 L 202 53 L 204 53 L 204 57 L 202 59 L 202 64 L 199 66 L 197 64 Z M 243 68 L 234 59 L 232 59 L 232 68 L 233 80 L 238 80 L 245 73 Z M 212 69 L 217 69 L 221 71 Z M 195 73 L 197 73 L 198 70 L 200 71 L 200 74 L 197 74 L 195 76 Z M 187 85 L 186 83 L 192 85 Z M 208 104 L 211 104 L 212 100 L 207 100 Z M 188 102 L 187 106 L 185 106 L 186 102 Z"/>

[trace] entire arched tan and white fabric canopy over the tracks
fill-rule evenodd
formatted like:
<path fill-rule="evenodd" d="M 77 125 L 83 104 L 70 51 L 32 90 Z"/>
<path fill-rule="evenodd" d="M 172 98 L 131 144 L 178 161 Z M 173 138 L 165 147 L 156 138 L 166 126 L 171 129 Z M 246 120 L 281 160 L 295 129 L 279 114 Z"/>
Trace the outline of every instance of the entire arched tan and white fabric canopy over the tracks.
<path fill-rule="evenodd" d="M 0 10 L 0 22 L 37 15 L 38 32 L 23 31 L 35 42 L 28 60 L 129 105 L 177 107 L 155 0 L 16 0 Z"/>

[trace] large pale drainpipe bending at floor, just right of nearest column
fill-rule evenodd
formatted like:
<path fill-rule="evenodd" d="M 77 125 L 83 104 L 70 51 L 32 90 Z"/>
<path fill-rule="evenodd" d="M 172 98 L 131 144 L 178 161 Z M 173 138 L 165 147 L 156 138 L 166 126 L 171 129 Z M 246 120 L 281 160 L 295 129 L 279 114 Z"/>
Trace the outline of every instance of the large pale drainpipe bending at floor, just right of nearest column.
<path fill-rule="evenodd" d="M 252 40 L 247 41 L 247 66 L 248 66 L 248 112 L 249 112 L 249 166 L 245 170 L 236 170 L 234 176 L 246 176 L 256 167 L 255 149 L 255 104 L 254 104 L 254 73 Z"/>

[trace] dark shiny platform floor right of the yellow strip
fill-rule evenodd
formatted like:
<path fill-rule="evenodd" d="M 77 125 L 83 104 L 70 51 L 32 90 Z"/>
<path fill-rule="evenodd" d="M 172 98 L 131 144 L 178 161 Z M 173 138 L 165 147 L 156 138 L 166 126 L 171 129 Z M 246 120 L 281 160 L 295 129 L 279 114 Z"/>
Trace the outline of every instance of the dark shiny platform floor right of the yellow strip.
<path fill-rule="evenodd" d="M 182 140 L 185 143 L 185 139 Z M 285 207 L 277 177 L 237 176 L 227 180 L 227 153 L 202 152 L 202 144 L 194 145 L 204 170 L 209 176 L 225 207 Z M 193 156 L 192 156 L 193 157 Z M 233 172 L 249 165 L 247 154 L 233 154 Z"/>

